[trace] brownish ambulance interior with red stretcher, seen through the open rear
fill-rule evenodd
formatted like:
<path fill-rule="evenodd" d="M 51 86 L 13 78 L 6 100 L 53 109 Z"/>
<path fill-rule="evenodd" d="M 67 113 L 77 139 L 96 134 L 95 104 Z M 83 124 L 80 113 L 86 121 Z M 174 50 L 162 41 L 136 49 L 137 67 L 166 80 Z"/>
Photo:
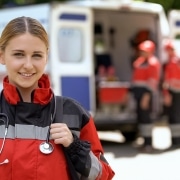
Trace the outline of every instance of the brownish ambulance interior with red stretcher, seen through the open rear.
<path fill-rule="evenodd" d="M 97 122 L 105 118 L 119 121 L 122 116 L 126 121 L 127 118 L 129 120 L 135 118 L 133 114 L 135 104 L 128 89 L 132 62 L 136 56 L 136 44 L 137 41 L 151 39 L 158 48 L 158 33 L 159 24 L 156 15 L 147 12 L 94 10 Z M 102 78 L 105 73 L 106 76 L 109 73 L 115 78 Z M 108 124 L 108 129 L 110 125 L 112 122 Z"/>

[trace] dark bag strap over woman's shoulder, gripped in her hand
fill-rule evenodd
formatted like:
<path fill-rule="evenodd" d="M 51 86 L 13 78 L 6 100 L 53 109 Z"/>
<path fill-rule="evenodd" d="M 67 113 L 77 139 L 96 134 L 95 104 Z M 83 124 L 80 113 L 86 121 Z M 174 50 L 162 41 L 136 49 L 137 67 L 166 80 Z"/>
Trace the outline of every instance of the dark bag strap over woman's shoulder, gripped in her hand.
<path fill-rule="evenodd" d="M 63 97 L 62 96 L 56 96 L 56 115 L 55 115 L 55 122 L 62 122 L 62 118 L 63 118 Z M 68 156 L 64 146 L 62 146 L 62 149 L 64 151 L 64 155 L 66 157 L 67 163 L 68 163 L 68 167 L 69 167 L 69 172 L 71 175 L 71 180 L 80 180 L 80 178 L 77 175 L 77 172 L 74 168 L 74 165 L 72 164 L 72 161 L 70 159 L 70 157 Z"/>

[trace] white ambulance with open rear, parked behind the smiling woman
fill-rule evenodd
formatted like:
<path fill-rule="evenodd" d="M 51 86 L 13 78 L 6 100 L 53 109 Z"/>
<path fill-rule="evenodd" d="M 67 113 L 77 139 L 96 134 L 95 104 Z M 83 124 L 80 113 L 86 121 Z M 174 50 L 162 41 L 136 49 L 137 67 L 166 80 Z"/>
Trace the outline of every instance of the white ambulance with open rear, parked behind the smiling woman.
<path fill-rule="evenodd" d="M 78 100 L 93 115 L 98 130 L 120 130 L 133 140 L 137 122 L 128 89 L 135 45 L 151 38 L 163 61 L 162 42 L 169 37 L 169 24 L 162 6 L 76 0 L 5 8 L 0 11 L 0 33 L 18 16 L 38 19 L 49 33 L 47 73 L 55 94 Z M 4 75 L 0 66 L 1 81 Z"/>

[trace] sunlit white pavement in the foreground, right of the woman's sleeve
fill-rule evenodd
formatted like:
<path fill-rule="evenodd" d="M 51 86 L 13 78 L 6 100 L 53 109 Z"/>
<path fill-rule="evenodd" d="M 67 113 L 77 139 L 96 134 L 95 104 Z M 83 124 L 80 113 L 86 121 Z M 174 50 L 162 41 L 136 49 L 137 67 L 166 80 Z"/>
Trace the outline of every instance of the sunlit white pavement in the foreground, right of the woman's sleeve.
<path fill-rule="evenodd" d="M 128 151 L 128 147 L 124 150 Z M 132 154 L 121 157 L 105 154 L 116 173 L 113 180 L 180 180 L 180 150 L 156 155 Z"/>

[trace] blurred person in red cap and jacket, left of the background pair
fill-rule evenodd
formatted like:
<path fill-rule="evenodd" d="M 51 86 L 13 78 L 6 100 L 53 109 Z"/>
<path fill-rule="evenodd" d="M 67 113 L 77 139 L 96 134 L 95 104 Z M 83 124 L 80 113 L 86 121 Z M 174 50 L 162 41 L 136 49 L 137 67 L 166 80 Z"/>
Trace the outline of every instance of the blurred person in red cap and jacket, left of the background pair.
<path fill-rule="evenodd" d="M 137 102 L 139 132 L 144 138 L 143 150 L 151 152 L 153 95 L 158 91 L 161 68 L 154 56 L 155 44 L 152 41 L 143 41 L 138 48 L 140 55 L 133 63 L 132 92 Z"/>

